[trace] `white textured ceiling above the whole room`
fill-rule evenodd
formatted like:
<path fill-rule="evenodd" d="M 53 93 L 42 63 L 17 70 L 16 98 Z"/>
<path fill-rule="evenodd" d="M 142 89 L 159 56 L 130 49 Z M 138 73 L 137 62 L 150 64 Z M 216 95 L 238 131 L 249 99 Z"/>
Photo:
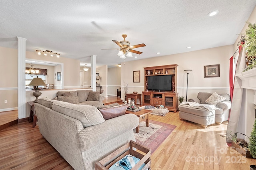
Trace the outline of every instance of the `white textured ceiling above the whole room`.
<path fill-rule="evenodd" d="M 50 50 L 90 66 L 120 64 L 122 34 L 146 59 L 234 44 L 256 0 L 1 0 L 0 46 Z M 216 16 L 207 14 L 218 10 Z M 186 47 L 192 48 L 187 49 Z M 160 52 L 160 54 L 156 54 Z M 60 58 L 61 59 L 61 58 Z"/>

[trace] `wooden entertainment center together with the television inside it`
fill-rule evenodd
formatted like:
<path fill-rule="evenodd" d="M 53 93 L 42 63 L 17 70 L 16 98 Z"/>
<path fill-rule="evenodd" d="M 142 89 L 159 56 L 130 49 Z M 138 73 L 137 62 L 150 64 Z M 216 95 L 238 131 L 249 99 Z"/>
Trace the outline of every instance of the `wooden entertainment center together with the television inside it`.
<path fill-rule="evenodd" d="M 178 111 L 178 93 L 176 93 L 177 66 L 178 64 L 171 64 L 144 68 L 144 80 L 146 85 L 144 92 L 142 92 L 142 102 L 144 105 L 163 105 L 167 107 L 169 111 Z M 152 76 L 159 77 L 152 78 Z M 160 78 L 163 76 L 165 76 L 165 78 Z M 166 83 L 166 81 L 168 83 Z M 156 86 L 155 84 L 158 85 Z"/>

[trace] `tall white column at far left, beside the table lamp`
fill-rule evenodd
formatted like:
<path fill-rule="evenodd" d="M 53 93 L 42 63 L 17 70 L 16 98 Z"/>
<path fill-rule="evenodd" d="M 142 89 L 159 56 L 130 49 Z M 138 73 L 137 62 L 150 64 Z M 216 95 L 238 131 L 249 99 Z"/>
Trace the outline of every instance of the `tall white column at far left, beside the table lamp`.
<path fill-rule="evenodd" d="M 18 118 L 26 117 L 26 38 L 18 39 Z"/>

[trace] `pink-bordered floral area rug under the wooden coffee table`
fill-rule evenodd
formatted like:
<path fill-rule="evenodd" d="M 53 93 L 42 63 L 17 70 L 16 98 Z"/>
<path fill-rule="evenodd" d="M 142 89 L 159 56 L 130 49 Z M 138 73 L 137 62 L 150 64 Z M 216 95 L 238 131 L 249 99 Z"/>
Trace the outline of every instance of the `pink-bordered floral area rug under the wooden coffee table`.
<path fill-rule="evenodd" d="M 149 127 L 146 122 L 140 122 L 139 133 L 134 129 L 136 142 L 148 147 L 153 153 L 161 143 L 172 133 L 176 126 L 158 121 L 149 121 Z"/>

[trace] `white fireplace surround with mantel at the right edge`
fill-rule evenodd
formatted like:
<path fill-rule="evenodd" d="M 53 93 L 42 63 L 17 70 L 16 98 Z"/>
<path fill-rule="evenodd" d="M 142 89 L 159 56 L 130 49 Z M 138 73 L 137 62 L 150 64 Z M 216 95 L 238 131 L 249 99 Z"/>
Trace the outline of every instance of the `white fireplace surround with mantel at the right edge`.
<path fill-rule="evenodd" d="M 236 76 L 242 80 L 242 88 L 244 89 L 237 130 L 244 132 L 249 137 L 255 120 L 256 68 Z"/>

